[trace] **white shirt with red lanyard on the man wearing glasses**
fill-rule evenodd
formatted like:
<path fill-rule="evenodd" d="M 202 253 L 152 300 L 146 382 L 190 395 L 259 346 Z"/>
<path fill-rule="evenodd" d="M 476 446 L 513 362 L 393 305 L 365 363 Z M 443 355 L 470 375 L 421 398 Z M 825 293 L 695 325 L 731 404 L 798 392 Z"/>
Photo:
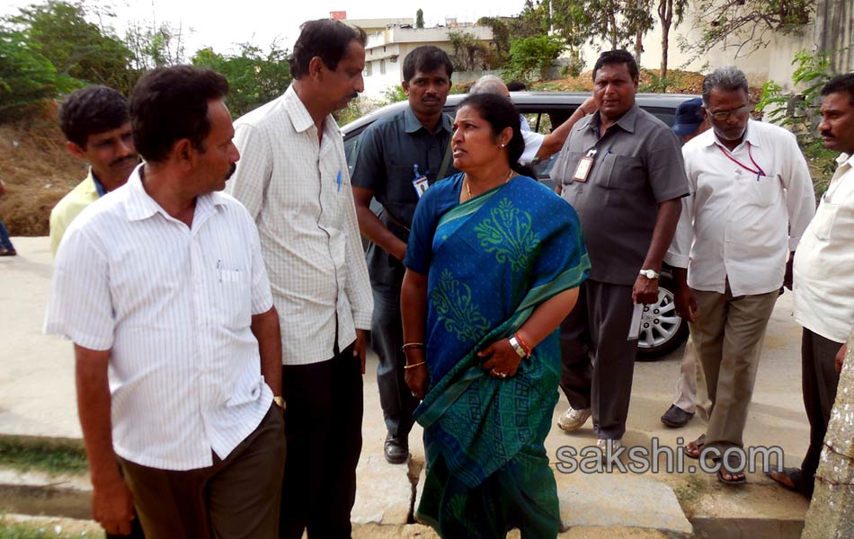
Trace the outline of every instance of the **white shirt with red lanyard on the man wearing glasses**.
<path fill-rule="evenodd" d="M 727 278 L 733 296 L 778 289 L 788 252 L 815 212 L 795 136 L 750 119 L 733 152 L 708 129 L 682 146 L 682 156 L 690 195 L 664 260 L 687 267 L 698 290 L 723 294 Z"/>

